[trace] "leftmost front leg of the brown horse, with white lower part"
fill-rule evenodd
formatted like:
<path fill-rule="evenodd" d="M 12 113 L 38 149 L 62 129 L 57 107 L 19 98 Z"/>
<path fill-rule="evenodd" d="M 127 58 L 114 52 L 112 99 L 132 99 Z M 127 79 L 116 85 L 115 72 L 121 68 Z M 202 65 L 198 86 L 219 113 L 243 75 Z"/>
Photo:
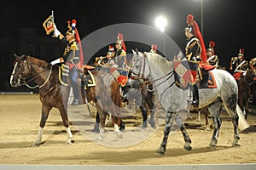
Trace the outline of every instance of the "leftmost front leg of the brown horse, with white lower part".
<path fill-rule="evenodd" d="M 34 146 L 38 146 L 42 142 L 43 132 L 44 132 L 44 126 L 46 123 L 46 120 L 49 116 L 49 111 L 52 109 L 49 105 L 42 105 L 42 113 L 41 113 L 41 120 L 40 120 L 40 128 L 38 131 L 38 137 L 34 142 Z"/>

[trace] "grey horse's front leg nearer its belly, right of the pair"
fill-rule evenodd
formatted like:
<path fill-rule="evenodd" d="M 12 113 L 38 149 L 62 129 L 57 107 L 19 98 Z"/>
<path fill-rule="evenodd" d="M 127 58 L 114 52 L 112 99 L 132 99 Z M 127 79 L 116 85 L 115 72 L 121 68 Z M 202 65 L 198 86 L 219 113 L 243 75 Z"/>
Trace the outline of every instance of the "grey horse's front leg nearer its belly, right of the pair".
<path fill-rule="evenodd" d="M 185 141 L 185 144 L 183 146 L 184 149 L 185 150 L 192 150 L 192 147 L 190 145 L 191 144 L 191 139 L 189 137 L 189 133 L 187 132 L 180 115 L 177 114 L 175 122 L 177 123 L 177 127 L 179 127 L 179 130 L 183 133 L 183 139 Z"/>

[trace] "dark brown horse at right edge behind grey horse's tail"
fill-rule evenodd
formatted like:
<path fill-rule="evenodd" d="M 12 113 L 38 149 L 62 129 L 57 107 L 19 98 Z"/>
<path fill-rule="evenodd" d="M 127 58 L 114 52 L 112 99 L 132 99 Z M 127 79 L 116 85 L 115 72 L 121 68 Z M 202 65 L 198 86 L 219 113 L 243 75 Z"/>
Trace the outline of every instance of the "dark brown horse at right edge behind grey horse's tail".
<path fill-rule="evenodd" d="M 253 88 L 255 78 L 256 69 L 252 67 L 247 70 L 246 75 L 241 77 L 238 82 L 238 105 L 240 106 L 241 111 L 244 113 L 245 119 L 247 119 L 250 95 L 256 94 L 256 88 Z"/>

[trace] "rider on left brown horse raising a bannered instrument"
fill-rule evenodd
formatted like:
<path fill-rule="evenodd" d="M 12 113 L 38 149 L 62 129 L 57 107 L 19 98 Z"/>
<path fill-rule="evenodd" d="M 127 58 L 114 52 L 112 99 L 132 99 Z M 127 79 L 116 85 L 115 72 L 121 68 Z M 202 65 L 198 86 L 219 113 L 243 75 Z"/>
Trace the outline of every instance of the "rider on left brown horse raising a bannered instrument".
<path fill-rule="evenodd" d="M 43 24 L 46 34 L 49 35 L 51 31 L 54 31 L 53 37 L 60 39 L 61 42 L 66 44 L 62 56 L 58 59 L 53 60 L 51 64 L 55 65 L 57 63 L 65 63 L 64 67 L 66 68 L 66 71 L 69 72 L 68 76 L 71 82 L 71 86 L 73 88 L 73 105 L 79 105 L 79 87 L 77 77 L 80 73 L 82 74 L 84 70 L 84 55 L 80 42 L 79 31 L 76 28 L 77 21 L 67 21 L 68 30 L 64 36 L 55 26 L 55 23 L 53 21 L 53 15 L 50 15 L 47 20 L 45 20 Z M 53 26 L 53 29 L 50 29 L 50 31 L 49 29 L 46 29 L 47 26 L 45 26 L 45 22 L 49 22 L 49 20 L 51 20 Z"/>

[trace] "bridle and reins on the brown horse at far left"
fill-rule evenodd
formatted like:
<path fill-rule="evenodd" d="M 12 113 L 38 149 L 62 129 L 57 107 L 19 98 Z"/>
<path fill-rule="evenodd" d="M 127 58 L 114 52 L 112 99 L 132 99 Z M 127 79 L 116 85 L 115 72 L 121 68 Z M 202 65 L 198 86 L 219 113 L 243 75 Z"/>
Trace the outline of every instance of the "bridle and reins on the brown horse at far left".
<path fill-rule="evenodd" d="M 16 61 L 16 63 L 15 63 L 15 68 L 16 68 L 16 66 L 18 65 L 18 62 L 19 62 L 19 60 L 20 59 L 17 59 L 17 61 Z M 35 74 L 35 75 L 31 75 L 32 74 L 32 71 L 31 71 L 31 67 L 30 67 L 30 65 L 28 65 L 27 64 L 27 61 L 26 60 L 23 60 L 23 71 L 17 76 L 18 77 L 18 81 L 20 82 L 20 84 L 21 85 L 26 85 L 26 87 L 28 87 L 28 88 L 43 88 L 44 87 L 44 85 L 49 81 L 49 77 L 50 77 L 50 75 L 51 75 L 51 73 L 52 73 L 52 65 L 50 65 L 50 68 L 47 68 L 47 69 L 45 69 L 44 71 L 48 71 L 49 70 L 49 75 L 48 75 L 48 77 L 46 78 L 46 80 L 44 81 L 44 83 L 42 84 L 42 85 L 36 85 L 36 86 L 34 86 L 34 87 L 31 87 L 30 85 L 28 85 L 27 83 L 28 82 L 31 82 L 31 81 L 33 81 L 33 80 L 35 80 L 35 79 L 37 79 L 37 77 L 40 75 L 40 74 L 42 74 L 42 73 L 44 73 L 44 71 L 40 71 L 40 72 L 38 72 L 37 74 Z M 28 73 L 27 73 L 27 77 L 24 77 L 23 76 L 23 74 L 24 74 L 24 71 L 26 71 L 26 67 L 27 67 L 27 69 L 28 69 Z M 14 69 L 14 72 L 12 73 L 12 76 L 14 76 L 15 75 L 15 69 Z M 30 76 L 31 75 L 31 76 Z"/>

